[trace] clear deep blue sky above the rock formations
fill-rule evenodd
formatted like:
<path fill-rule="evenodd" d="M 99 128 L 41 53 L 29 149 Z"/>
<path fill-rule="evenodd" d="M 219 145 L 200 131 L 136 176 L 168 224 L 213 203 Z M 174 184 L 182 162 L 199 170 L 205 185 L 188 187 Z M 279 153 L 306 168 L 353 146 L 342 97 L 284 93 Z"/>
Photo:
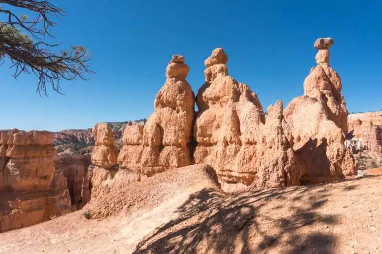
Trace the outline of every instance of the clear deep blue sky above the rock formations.
<path fill-rule="evenodd" d="M 63 82 L 66 96 L 35 93 L 36 78 L 14 80 L 0 66 L 0 129 L 93 127 L 147 118 L 173 54 L 190 66 L 195 94 L 204 59 L 222 47 L 229 74 L 259 95 L 263 108 L 302 95 L 317 37 L 333 37 L 331 66 L 350 112 L 382 108 L 382 1 L 67 0 L 56 42 L 91 51 L 91 81 Z"/>

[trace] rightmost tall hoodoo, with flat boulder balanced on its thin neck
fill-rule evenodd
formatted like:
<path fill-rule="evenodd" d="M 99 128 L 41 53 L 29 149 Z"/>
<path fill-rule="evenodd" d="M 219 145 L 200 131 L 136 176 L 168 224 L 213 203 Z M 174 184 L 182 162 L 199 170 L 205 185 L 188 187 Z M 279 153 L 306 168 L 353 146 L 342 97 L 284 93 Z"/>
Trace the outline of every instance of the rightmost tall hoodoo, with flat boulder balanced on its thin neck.
<path fill-rule="evenodd" d="M 329 66 L 332 44 L 330 38 L 317 39 L 317 66 L 305 78 L 304 95 L 294 98 L 284 111 L 294 137 L 293 149 L 305 168 L 302 184 L 332 182 L 357 174 L 354 158 L 344 145 L 348 111 L 341 79 Z"/>

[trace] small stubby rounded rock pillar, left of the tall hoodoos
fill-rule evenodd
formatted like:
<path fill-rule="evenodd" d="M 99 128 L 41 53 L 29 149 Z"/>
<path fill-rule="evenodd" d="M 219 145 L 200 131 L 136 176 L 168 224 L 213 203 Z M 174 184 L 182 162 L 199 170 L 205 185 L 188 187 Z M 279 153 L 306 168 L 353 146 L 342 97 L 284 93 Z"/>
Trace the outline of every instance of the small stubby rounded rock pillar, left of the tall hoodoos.
<path fill-rule="evenodd" d="M 102 123 L 95 125 L 93 134 L 95 147 L 92 151 L 92 163 L 101 168 L 111 168 L 117 161 L 113 132 L 107 124 Z"/>

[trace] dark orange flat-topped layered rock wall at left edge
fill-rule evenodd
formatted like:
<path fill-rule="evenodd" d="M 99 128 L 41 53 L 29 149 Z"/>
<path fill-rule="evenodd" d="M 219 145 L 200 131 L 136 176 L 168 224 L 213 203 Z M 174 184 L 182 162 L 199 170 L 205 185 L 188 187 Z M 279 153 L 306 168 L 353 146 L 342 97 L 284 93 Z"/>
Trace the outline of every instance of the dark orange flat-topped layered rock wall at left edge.
<path fill-rule="evenodd" d="M 61 181 L 52 189 L 53 134 L 48 131 L 1 133 L 0 232 L 30 226 L 68 212 Z"/>

